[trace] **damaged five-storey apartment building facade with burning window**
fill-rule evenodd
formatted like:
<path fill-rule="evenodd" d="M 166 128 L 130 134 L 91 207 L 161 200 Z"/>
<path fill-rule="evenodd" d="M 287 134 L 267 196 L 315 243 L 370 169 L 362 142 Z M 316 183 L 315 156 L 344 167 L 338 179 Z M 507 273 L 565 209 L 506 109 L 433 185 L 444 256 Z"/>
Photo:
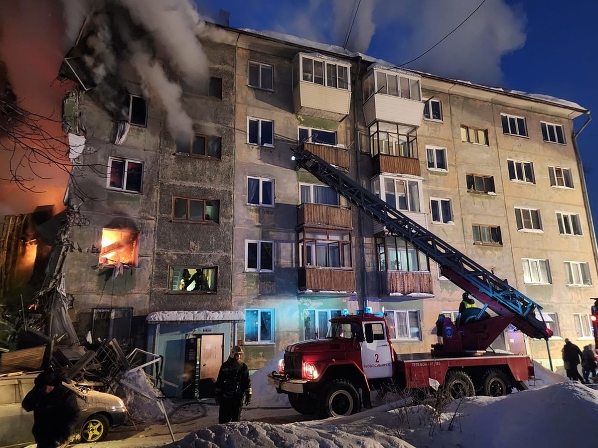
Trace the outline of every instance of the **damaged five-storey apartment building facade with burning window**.
<path fill-rule="evenodd" d="M 185 138 L 126 63 L 124 116 L 76 52 L 63 65 L 86 192 L 66 202 L 89 222 L 70 229 L 62 270 L 78 337 L 163 355 L 184 397 L 209 395 L 199 385 L 234 343 L 259 369 L 343 309 L 385 311 L 397 351 L 428 351 L 462 290 L 298 170 L 289 149 L 304 145 L 544 306 L 553 354 L 591 339 L 596 244 L 572 121 L 585 109 L 283 36 L 206 24 L 199 41 L 202 82 L 164 70 Z M 514 328 L 495 346 L 548 360 Z"/>

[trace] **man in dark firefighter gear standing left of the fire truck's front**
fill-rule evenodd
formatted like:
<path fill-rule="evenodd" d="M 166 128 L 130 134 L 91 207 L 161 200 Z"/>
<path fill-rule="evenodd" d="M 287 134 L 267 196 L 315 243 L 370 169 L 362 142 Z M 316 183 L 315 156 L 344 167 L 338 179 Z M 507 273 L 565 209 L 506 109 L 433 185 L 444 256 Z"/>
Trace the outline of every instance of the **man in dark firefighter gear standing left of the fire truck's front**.
<path fill-rule="evenodd" d="M 216 379 L 216 404 L 220 405 L 218 423 L 239 422 L 245 406 L 251 404 L 249 369 L 241 361 L 243 349 L 235 345 L 230 357 L 222 363 Z"/>

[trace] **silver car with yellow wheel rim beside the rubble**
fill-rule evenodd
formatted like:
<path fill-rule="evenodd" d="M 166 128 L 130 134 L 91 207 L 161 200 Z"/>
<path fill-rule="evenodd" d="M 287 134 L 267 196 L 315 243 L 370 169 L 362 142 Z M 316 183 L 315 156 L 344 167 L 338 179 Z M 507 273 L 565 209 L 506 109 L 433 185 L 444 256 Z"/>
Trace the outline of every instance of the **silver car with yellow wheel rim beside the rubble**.
<path fill-rule="evenodd" d="M 38 373 L 0 375 L 0 447 L 33 442 L 33 412 L 23 409 L 21 402 L 33 389 Z M 103 440 L 112 426 L 124 422 L 127 409 L 116 395 L 63 384 L 77 395 L 81 412 L 75 428 L 83 441 Z"/>

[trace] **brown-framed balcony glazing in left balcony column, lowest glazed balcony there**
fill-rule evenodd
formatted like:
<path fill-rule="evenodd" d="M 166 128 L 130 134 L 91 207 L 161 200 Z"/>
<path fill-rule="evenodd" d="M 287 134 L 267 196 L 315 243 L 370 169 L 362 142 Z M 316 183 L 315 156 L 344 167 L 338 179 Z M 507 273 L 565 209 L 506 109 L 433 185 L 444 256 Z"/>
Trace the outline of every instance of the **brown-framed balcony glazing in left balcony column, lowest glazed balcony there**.
<path fill-rule="evenodd" d="M 306 229 L 299 232 L 299 266 L 350 268 L 349 231 Z"/>

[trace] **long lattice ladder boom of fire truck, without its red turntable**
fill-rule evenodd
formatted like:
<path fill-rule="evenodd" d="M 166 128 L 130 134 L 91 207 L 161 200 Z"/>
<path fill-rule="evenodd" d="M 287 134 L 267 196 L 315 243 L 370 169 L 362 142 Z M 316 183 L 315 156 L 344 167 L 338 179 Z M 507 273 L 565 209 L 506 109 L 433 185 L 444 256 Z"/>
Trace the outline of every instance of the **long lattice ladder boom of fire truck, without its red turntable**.
<path fill-rule="evenodd" d="M 544 323 L 542 306 L 538 303 L 304 149 L 303 145 L 292 151 L 298 165 L 385 226 L 389 232 L 413 244 L 417 250 L 438 263 L 445 277 L 485 303 L 496 314 L 512 314 L 511 323 L 530 337 L 548 339 L 552 336 L 553 332 Z M 536 317 L 535 310 L 542 320 Z"/>

